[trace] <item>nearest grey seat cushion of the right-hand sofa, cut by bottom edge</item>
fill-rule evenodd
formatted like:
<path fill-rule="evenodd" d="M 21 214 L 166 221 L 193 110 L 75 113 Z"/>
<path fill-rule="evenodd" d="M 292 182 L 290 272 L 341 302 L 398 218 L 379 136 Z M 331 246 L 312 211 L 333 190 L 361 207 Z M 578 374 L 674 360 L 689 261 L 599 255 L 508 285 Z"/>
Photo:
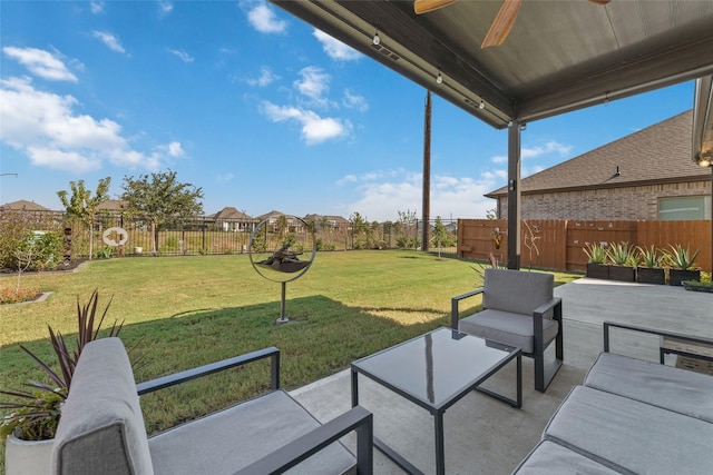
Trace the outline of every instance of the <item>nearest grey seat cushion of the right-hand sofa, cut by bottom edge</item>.
<path fill-rule="evenodd" d="M 614 475 L 618 472 L 592 458 L 563 447 L 551 441 L 541 441 L 512 472 L 517 475 Z"/>

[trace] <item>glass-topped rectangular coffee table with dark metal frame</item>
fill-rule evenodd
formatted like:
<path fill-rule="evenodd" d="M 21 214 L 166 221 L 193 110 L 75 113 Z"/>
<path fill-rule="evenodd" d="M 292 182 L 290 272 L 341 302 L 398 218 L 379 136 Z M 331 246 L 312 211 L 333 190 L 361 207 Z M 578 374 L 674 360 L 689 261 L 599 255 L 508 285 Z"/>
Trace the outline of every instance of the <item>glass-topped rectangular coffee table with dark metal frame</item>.
<path fill-rule="evenodd" d="M 517 359 L 516 399 L 478 387 L 512 359 Z M 450 328 L 439 328 L 352 363 L 352 406 L 359 404 L 360 373 L 431 413 L 436 431 L 436 472 L 439 475 L 446 473 L 446 409 L 472 389 L 504 400 L 512 407 L 522 406 L 520 348 Z M 374 446 L 407 472 L 421 473 L 375 436 Z"/>

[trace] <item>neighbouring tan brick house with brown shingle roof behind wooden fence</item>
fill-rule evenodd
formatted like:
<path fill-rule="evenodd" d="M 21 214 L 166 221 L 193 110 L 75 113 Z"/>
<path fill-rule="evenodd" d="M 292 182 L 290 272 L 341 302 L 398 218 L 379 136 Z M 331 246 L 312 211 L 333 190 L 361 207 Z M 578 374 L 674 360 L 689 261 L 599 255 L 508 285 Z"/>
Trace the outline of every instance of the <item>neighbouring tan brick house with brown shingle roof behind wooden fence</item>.
<path fill-rule="evenodd" d="M 522 219 L 711 219 L 711 168 L 691 158 L 686 111 L 521 180 Z M 486 197 L 507 218 L 507 187 Z"/>

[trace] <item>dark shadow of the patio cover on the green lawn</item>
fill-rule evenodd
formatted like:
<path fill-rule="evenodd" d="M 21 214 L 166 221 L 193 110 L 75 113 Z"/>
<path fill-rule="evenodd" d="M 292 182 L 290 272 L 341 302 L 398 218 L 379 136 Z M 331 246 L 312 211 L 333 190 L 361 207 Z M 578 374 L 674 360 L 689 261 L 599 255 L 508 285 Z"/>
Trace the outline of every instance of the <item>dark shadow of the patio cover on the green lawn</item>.
<path fill-rule="evenodd" d="M 139 324 L 125 324 L 121 339 L 127 348 L 137 345 L 131 359 L 141 358 L 136 380 L 229 358 L 275 346 L 281 350 L 281 386 L 301 387 L 349 367 L 351 362 L 389 346 L 446 326 L 447 316 L 430 321 L 394 321 L 374 315 L 374 308 L 349 307 L 324 296 L 289 299 L 287 324 L 276 324 L 280 301 L 218 310 L 182 313 Z M 420 310 L 387 309 L 403 314 Z M 437 310 L 424 309 L 429 314 Z M 417 320 L 418 318 L 414 318 Z M 69 340 L 74 339 L 68 335 Z M 53 362 L 47 340 L 23 344 Z M 20 387 L 27 379 L 42 378 L 37 365 L 19 346 L 2 349 L 3 387 Z M 155 433 L 177 423 L 217 410 L 268 388 L 267 362 L 141 397 L 147 431 Z"/>

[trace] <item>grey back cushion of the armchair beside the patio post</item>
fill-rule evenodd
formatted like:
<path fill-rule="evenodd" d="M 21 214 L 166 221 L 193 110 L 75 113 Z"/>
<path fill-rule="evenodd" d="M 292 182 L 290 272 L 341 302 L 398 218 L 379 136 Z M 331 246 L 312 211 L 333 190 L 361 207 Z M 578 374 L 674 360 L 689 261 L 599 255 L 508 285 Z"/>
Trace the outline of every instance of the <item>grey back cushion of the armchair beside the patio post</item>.
<path fill-rule="evenodd" d="M 554 285 L 551 274 L 486 269 L 482 308 L 531 316 L 537 307 L 553 299 Z"/>

